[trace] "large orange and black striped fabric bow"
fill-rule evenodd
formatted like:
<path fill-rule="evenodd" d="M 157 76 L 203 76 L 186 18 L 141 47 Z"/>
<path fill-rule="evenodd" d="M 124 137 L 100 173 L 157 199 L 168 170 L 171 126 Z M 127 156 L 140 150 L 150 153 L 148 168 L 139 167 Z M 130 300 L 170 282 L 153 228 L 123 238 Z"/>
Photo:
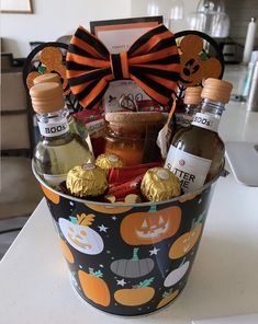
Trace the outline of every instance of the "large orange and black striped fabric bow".
<path fill-rule="evenodd" d="M 66 60 L 70 90 L 87 108 L 101 100 L 110 81 L 121 79 L 135 81 L 159 104 L 169 104 L 180 71 L 173 34 L 164 25 L 149 30 L 121 54 L 110 54 L 98 37 L 80 26 L 71 37 Z"/>

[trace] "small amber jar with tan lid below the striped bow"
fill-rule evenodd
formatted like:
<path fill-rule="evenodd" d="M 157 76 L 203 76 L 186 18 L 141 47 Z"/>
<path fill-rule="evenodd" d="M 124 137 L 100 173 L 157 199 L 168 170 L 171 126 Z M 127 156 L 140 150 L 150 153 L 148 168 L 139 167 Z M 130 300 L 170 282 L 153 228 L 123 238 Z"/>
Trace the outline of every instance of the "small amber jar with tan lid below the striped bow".
<path fill-rule="evenodd" d="M 147 125 L 159 123 L 161 113 L 106 113 L 105 153 L 119 155 L 124 165 L 141 164 Z"/>

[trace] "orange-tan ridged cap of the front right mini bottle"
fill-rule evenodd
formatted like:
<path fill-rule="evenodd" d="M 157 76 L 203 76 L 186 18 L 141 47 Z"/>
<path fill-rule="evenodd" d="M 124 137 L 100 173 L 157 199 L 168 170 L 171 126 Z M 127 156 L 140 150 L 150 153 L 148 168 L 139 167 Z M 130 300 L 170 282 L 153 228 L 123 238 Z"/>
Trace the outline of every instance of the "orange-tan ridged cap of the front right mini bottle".
<path fill-rule="evenodd" d="M 201 96 L 215 102 L 227 104 L 233 85 L 228 81 L 209 78 L 204 83 Z"/>

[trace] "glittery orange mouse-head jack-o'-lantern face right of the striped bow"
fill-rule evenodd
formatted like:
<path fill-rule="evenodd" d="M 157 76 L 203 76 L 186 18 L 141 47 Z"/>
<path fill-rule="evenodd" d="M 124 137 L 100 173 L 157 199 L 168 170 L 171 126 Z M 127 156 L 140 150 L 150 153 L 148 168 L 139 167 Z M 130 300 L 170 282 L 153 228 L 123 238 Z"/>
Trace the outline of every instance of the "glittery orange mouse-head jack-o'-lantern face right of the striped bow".
<path fill-rule="evenodd" d="M 179 43 L 180 78 L 183 86 L 194 86 L 207 78 L 220 78 L 222 63 L 215 57 L 209 57 L 203 50 L 203 39 L 198 35 L 187 35 Z"/>

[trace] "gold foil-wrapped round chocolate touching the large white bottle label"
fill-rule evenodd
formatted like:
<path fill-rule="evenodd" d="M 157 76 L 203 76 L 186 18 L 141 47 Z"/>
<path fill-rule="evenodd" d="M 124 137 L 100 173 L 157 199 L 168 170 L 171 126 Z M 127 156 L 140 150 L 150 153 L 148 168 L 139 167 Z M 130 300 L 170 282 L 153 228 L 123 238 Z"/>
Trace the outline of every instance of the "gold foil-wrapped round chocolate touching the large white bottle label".
<path fill-rule="evenodd" d="M 142 181 L 142 194 L 149 201 L 162 201 L 181 194 L 179 178 L 168 169 L 149 169 Z"/>

